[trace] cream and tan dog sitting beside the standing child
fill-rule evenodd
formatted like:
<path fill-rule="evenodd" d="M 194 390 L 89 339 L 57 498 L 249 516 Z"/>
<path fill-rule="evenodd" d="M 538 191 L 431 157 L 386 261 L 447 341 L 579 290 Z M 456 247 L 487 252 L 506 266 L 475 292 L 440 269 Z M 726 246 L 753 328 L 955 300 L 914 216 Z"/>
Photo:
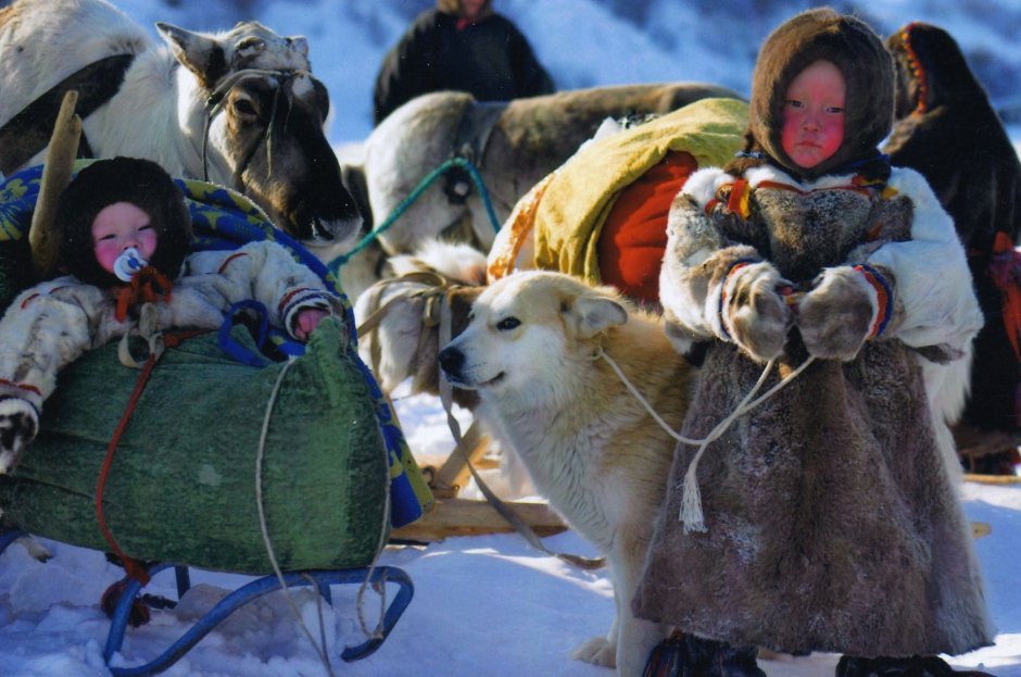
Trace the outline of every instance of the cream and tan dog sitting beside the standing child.
<path fill-rule="evenodd" d="M 610 562 L 617 617 L 606 637 L 579 647 L 575 657 L 641 675 L 669 630 L 635 618 L 631 598 L 675 441 L 614 365 L 678 429 L 690 366 L 661 321 L 610 288 L 560 273 L 517 273 L 482 291 L 467 328 L 439 361 L 454 386 L 477 391 L 476 416 L 517 452 L 551 505 Z"/>

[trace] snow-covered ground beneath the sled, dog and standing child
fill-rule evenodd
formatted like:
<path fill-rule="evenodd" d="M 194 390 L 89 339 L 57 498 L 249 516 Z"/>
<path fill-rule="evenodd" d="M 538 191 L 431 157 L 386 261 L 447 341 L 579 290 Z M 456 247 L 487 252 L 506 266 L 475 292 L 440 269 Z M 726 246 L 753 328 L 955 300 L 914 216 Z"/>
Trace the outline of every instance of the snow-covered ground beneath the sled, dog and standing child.
<path fill-rule="evenodd" d="M 399 415 L 416 451 L 442 454 L 452 446 L 438 402 L 413 396 L 398 401 Z M 999 677 L 1021 677 L 1021 486 L 968 484 L 965 507 L 971 521 L 992 525 L 975 541 L 985 576 L 996 644 L 958 656 L 959 666 L 984 665 Z M 573 532 L 547 540 L 554 550 L 595 554 Z M 0 677 L 101 677 L 109 620 L 98 603 L 123 572 L 99 552 L 47 544 L 54 557 L 41 564 L 20 546 L 0 554 Z M 415 597 L 377 653 L 344 664 L 344 645 L 363 641 L 356 586 L 333 588 L 336 614 L 325 634 L 332 670 L 352 677 L 424 675 L 607 677 L 613 673 L 570 657 L 570 651 L 602 635 L 614 615 L 606 571 L 585 572 L 537 552 L 517 535 L 450 538 L 428 547 L 391 547 L 381 564 L 403 568 Z M 148 662 L 185 632 L 197 613 L 251 580 L 192 569 L 191 591 L 173 611 L 128 630 L 117 661 Z M 169 572 L 147 588 L 174 598 Z M 291 592 L 302 618 L 319 637 L 316 595 Z M 393 594 L 393 590 L 390 590 Z M 375 624 L 379 599 L 367 594 L 363 612 Z M 834 655 L 764 661 L 770 677 L 832 675 Z M 230 616 L 166 675 L 177 677 L 314 677 L 329 673 L 319 662 L 282 593 L 274 592 Z"/>

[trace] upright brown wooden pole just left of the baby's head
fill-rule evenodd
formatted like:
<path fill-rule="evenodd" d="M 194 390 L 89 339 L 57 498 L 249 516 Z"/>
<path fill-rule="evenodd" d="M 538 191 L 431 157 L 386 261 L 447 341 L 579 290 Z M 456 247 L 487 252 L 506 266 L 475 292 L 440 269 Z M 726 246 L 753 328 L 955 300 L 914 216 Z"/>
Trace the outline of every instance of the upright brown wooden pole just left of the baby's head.
<path fill-rule="evenodd" d="M 77 103 L 76 89 L 64 93 L 56 122 L 53 124 L 53 134 L 50 136 L 50 147 L 42 167 L 42 184 L 28 229 L 33 266 L 36 274 L 43 279 L 49 277 L 56 266 L 59 242 L 53 237 L 53 213 L 56 210 L 56 199 L 71 183 L 75 156 L 78 154 L 78 141 L 81 138 L 81 118 L 75 114 Z"/>

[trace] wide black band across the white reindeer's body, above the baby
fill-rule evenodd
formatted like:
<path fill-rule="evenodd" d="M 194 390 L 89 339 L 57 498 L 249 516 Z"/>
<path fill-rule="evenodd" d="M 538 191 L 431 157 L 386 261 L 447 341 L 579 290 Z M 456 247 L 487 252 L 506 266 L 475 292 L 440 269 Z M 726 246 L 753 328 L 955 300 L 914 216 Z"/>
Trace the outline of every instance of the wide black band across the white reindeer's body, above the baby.
<path fill-rule="evenodd" d="M 100 59 L 65 77 L 22 109 L 0 128 L 0 173 L 15 172 L 49 145 L 65 92 L 78 91 L 76 112 L 84 120 L 117 93 L 134 61 L 135 54 Z M 92 156 L 85 133 L 78 143 L 78 156 Z"/>

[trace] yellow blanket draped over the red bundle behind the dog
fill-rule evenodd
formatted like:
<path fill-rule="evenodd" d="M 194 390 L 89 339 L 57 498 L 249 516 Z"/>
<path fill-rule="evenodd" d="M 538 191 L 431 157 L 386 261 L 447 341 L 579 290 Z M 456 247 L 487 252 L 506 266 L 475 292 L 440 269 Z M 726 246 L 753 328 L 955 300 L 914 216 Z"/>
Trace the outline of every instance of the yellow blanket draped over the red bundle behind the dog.
<path fill-rule="evenodd" d="M 600 284 L 596 243 L 620 189 L 668 151 L 688 151 L 699 167 L 726 164 L 741 149 L 747 121 L 743 101 L 702 99 L 583 147 L 547 177 L 534 205 L 535 267 Z"/>

